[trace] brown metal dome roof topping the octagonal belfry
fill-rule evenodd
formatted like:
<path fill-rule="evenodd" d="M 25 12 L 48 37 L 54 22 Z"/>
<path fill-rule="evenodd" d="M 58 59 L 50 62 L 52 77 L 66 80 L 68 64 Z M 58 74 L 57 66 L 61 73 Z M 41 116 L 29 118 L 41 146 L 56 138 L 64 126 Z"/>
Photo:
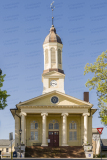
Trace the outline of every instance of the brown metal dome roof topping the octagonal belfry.
<path fill-rule="evenodd" d="M 43 44 L 49 42 L 58 42 L 62 44 L 61 38 L 56 34 L 56 29 L 54 28 L 54 25 L 52 25 L 52 27 L 50 28 L 50 33 L 46 36 Z"/>

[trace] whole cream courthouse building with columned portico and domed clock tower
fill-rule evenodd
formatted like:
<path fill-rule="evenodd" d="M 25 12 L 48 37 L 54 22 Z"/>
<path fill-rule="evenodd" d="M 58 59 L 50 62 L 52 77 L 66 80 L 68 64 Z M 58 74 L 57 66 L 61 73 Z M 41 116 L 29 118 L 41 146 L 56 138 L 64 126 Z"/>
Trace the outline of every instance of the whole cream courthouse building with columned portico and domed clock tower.
<path fill-rule="evenodd" d="M 61 38 L 52 25 L 43 43 L 44 71 L 41 96 L 20 102 L 11 113 L 15 119 L 15 146 L 82 146 L 92 144 L 92 115 L 96 109 L 84 100 L 65 94 Z"/>

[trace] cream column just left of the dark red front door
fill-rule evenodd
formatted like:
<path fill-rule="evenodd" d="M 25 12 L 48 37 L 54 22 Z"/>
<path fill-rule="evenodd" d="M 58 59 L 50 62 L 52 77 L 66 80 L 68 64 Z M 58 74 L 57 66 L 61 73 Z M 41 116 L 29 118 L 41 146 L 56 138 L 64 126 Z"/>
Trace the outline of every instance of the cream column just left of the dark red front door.
<path fill-rule="evenodd" d="M 41 113 L 42 116 L 42 145 L 41 146 L 48 146 L 46 141 L 46 116 L 48 113 Z"/>

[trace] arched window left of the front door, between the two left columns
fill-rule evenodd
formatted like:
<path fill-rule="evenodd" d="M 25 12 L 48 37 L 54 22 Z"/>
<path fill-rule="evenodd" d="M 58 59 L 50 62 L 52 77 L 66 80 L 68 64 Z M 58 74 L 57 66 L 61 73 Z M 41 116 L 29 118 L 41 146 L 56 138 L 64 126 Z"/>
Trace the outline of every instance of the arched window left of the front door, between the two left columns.
<path fill-rule="evenodd" d="M 31 140 L 38 140 L 38 122 L 31 122 Z"/>

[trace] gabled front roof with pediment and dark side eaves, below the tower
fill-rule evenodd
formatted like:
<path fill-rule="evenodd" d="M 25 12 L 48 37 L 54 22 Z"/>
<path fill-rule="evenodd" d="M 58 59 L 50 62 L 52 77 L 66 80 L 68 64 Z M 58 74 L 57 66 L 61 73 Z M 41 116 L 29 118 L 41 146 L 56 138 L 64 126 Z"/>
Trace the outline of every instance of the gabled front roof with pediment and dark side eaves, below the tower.
<path fill-rule="evenodd" d="M 50 101 L 50 98 L 52 95 L 57 95 L 59 97 L 62 97 L 62 99 L 60 99 L 60 102 L 58 104 L 52 104 Z M 48 98 L 48 99 L 47 99 Z M 47 101 L 46 101 L 47 99 Z M 64 102 L 64 104 L 62 104 Z M 69 103 L 68 103 L 69 101 Z M 89 102 L 85 102 L 83 100 L 77 99 L 75 97 L 69 96 L 65 93 L 59 92 L 59 91 L 51 91 L 45 94 L 42 94 L 38 97 L 29 99 L 27 101 L 24 102 L 20 102 L 16 105 L 15 109 L 10 109 L 13 117 L 15 118 L 15 115 L 17 115 L 20 118 L 20 109 L 21 108 L 26 108 L 26 107 L 32 107 L 32 108 L 41 108 L 41 107 L 57 107 L 57 108 L 87 108 L 89 109 L 90 113 L 92 113 L 92 115 L 95 113 L 96 109 L 92 109 L 93 104 L 89 103 Z"/>

